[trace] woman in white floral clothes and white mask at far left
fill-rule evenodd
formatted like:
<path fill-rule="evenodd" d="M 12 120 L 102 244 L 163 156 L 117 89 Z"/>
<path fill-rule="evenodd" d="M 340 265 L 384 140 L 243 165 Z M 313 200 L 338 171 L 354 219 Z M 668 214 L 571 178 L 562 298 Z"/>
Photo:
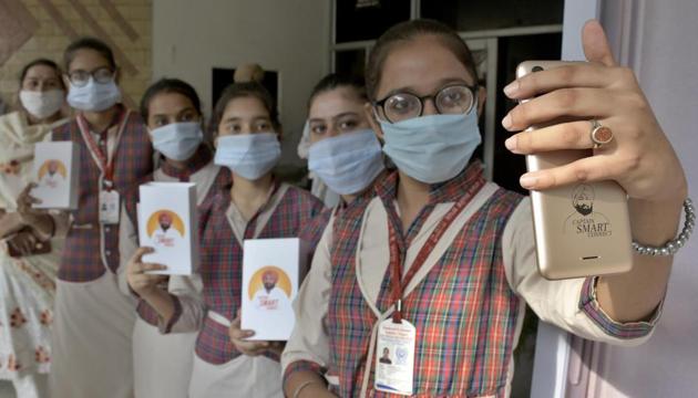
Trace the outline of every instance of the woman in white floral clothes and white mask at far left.
<path fill-rule="evenodd" d="M 11 381 L 18 397 L 39 398 L 48 394 L 62 240 L 37 233 L 16 199 L 33 181 L 34 145 L 66 122 L 65 87 L 45 59 L 22 69 L 19 87 L 20 109 L 0 116 L 0 380 Z"/>

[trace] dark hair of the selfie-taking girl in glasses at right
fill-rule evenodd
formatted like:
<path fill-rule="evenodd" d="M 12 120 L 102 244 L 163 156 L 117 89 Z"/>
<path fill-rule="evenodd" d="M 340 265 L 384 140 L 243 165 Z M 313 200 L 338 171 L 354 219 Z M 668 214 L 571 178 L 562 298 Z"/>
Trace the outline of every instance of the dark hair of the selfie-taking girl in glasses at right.
<path fill-rule="evenodd" d="M 401 22 L 388 29 L 376 42 L 366 65 L 366 88 L 371 100 L 376 100 L 376 91 L 380 84 L 383 63 L 390 51 L 400 42 L 408 42 L 423 35 L 437 36 L 455 57 L 465 66 L 478 82 L 478 70 L 473 54 L 458 33 L 445 24 L 428 19 Z"/>

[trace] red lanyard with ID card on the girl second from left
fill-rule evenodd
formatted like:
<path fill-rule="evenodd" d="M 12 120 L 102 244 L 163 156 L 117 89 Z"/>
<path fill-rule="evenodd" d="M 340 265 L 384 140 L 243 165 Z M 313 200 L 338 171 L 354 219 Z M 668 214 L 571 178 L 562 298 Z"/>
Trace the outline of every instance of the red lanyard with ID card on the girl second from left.
<path fill-rule="evenodd" d="M 94 160 L 101 172 L 97 212 L 100 223 L 102 224 L 119 223 L 119 214 L 121 212 L 121 197 L 119 192 L 114 189 L 114 163 L 116 160 L 119 143 L 121 142 L 121 136 L 126 126 L 129 113 L 130 111 L 124 111 L 121 119 L 119 121 L 119 130 L 116 133 L 116 139 L 114 142 L 114 145 L 112 146 L 112 150 L 110 150 L 109 148 L 109 133 L 106 134 L 107 137 L 104 137 L 104 139 L 106 140 L 106 154 L 104 154 L 97 143 L 95 143 L 94 137 L 90 132 L 90 127 L 88 126 L 88 122 L 84 119 L 84 117 L 82 115 L 78 115 L 76 117 L 78 127 L 80 127 L 80 134 L 85 140 L 85 145 L 90 150 L 90 155 L 92 155 L 92 159 Z"/>

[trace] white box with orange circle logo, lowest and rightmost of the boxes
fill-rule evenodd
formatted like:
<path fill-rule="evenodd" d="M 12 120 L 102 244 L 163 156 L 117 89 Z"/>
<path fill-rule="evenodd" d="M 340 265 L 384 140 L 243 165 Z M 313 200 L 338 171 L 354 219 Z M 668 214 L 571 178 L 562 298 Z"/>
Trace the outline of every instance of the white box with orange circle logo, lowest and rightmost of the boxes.
<path fill-rule="evenodd" d="M 298 238 L 252 239 L 243 253 L 243 329 L 255 331 L 250 341 L 287 341 L 308 259 L 305 245 Z"/>

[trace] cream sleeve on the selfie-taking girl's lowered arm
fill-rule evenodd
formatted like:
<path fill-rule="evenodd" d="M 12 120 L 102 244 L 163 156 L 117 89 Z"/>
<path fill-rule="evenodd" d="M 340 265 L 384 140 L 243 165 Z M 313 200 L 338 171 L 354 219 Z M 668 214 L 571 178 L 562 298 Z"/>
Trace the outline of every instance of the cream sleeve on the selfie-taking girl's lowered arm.
<path fill-rule="evenodd" d="M 332 242 L 331 217 L 316 248 L 310 271 L 294 301 L 296 326 L 281 355 L 286 376 L 295 370 L 318 371 L 329 363 L 329 339 L 324 326 L 331 292 L 330 245 Z"/>

